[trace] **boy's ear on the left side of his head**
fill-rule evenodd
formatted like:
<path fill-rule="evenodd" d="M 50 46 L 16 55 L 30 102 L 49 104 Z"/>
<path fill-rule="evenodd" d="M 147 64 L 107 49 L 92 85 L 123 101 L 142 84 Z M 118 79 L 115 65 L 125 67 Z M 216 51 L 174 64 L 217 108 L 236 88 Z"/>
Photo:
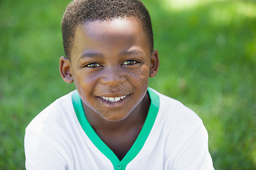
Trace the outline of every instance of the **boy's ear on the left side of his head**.
<path fill-rule="evenodd" d="M 72 83 L 71 62 L 67 57 L 60 57 L 60 75 L 64 82 Z"/>

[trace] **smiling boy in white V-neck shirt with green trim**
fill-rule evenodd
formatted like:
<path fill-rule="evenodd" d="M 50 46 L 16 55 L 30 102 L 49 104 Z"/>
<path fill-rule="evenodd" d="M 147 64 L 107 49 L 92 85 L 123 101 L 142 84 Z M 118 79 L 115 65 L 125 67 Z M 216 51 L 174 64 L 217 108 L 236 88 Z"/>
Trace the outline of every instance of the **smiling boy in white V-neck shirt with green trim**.
<path fill-rule="evenodd" d="M 148 88 L 159 57 L 141 2 L 75 0 L 61 27 L 77 90 L 26 128 L 27 169 L 213 169 L 200 118 Z"/>

